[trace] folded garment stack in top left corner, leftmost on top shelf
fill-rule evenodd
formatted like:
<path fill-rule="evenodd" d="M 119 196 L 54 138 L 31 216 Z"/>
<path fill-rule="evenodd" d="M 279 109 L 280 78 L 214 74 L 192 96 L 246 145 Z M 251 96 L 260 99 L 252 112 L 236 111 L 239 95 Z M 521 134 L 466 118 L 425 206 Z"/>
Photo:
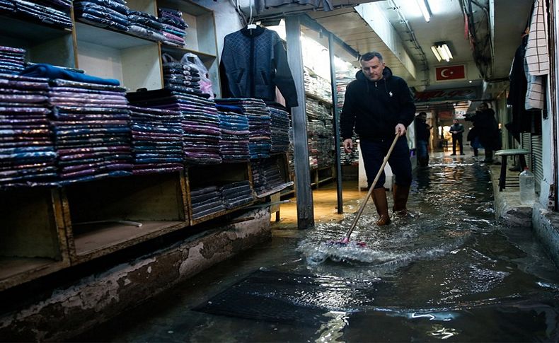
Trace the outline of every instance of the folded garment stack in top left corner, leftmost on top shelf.
<path fill-rule="evenodd" d="M 69 0 L 0 0 L 0 13 L 57 28 L 72 27 L 70 7 Z"/>

